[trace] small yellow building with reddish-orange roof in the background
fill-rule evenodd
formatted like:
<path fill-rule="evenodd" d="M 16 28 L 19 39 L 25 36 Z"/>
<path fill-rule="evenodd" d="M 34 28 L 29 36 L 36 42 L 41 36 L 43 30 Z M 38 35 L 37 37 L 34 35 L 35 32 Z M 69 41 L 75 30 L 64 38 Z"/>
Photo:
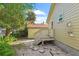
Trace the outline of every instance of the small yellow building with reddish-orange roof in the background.
<path fill-rule="evenodd" d="M 48 35 L 48 24 L 28 24 L 27 27 L 28 38 L 40 38 L 46 37 L 46 35 Z M 45 33 L 43 33 L 42 31 L 44 31 Z"/>

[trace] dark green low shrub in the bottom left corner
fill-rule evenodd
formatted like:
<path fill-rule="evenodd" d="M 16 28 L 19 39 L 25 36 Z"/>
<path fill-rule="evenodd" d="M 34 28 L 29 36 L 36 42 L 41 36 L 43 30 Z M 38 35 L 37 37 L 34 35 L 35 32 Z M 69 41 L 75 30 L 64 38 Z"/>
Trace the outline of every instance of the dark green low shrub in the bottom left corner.
<path fill-rule="evenodd" d="M 0 56 L 13 56 L 16 52 L 12 46 L 7 43 L 0 43 Z"/>

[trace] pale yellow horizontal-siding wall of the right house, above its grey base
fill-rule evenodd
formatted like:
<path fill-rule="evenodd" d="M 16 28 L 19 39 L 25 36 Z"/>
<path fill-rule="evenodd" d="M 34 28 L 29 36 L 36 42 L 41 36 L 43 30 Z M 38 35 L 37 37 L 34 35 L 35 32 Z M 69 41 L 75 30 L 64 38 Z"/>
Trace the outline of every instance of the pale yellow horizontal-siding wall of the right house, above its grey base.
<path fill-rule="evenodd" d="M 55 39 L 79 50 L 79 4 L 56 4 L 51 20 Z"/>

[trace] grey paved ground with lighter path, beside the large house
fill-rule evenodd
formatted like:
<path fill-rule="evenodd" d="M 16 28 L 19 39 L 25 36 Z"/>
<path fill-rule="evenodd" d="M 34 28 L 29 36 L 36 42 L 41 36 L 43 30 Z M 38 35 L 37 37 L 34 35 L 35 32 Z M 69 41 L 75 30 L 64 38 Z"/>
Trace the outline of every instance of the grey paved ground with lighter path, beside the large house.
<path fill-rule="evenodd" d="M 34 40 L 21 40 L 14 43 L 17 56 L 70 56 L 53 44 L 34 46 Z"/>

